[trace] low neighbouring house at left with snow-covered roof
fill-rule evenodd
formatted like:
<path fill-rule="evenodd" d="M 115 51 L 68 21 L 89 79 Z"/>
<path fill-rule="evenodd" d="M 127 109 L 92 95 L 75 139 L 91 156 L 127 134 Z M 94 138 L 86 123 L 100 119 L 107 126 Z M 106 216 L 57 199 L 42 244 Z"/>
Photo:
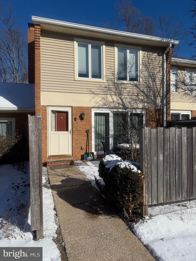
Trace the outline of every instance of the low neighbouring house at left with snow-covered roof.
<path fill-rule="evenodd" d="M 35 115 L 35 85 L 0 83 L 0 134 L 14 132 L 28 140 L 28 114 Z"/>

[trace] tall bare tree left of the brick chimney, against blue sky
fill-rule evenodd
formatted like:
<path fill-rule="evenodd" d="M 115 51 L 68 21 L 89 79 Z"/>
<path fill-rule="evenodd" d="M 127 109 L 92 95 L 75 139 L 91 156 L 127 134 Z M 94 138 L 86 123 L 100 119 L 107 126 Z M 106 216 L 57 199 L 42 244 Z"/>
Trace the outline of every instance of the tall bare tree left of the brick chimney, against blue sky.
<path fill-rule="evenodd" d="M 27 83 L 27 41 L 12 17 L 13 6 L 0 3 L 0 81 Z"/>

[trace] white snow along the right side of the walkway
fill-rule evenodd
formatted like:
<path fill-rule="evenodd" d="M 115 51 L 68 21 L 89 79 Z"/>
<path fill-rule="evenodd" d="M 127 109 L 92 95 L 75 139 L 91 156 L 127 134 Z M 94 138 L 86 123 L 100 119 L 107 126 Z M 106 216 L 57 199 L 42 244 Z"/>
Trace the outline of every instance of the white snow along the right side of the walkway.
<path fill-rule="evenodd" d="M 78 166 L 94 183 L 99 162 Z M 157 261 L 196 260 L 196 200 L 149 208 L 149 217 L 131 224 L 131 230 Z"/>

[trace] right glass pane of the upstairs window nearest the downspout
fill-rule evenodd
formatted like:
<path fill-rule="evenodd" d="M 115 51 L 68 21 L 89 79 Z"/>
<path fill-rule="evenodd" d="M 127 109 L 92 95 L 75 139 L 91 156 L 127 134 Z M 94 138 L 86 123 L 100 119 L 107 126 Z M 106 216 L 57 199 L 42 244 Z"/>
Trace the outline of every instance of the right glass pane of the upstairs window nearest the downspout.
<path fill-rule="evenodd" d="M 129 50 L 129 80 L 138 81 L 138 51 Z"/>

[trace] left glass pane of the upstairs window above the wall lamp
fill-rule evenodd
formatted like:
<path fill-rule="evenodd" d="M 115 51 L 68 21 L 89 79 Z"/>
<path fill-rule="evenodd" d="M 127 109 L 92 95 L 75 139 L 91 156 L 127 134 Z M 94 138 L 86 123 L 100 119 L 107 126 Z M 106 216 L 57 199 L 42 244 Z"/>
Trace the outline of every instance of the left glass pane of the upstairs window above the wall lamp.
<path fill-rule="evenodd" d="M 77 44 L 78 77 L 89 78 L 89 45 Z"/>

